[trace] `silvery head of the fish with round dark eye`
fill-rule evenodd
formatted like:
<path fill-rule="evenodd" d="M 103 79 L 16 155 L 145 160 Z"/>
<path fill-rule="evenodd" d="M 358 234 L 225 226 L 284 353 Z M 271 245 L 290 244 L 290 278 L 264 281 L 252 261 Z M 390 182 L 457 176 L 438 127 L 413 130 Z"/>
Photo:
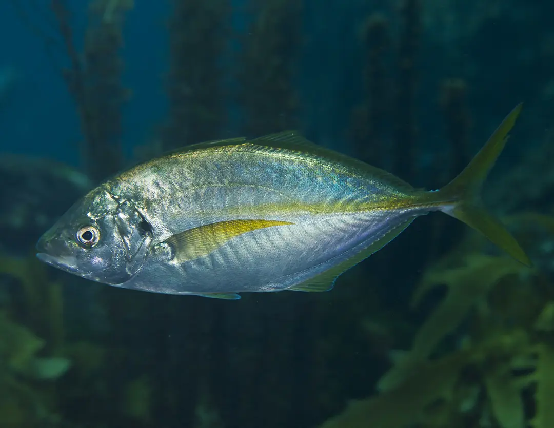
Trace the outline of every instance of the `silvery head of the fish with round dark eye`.
<path fill-rule="evenodd" d="M 39 260 L 89 280 L 131 279 L 150 249 L 152 229 L 128 202 L 96 188 L 39 239 Z"/>

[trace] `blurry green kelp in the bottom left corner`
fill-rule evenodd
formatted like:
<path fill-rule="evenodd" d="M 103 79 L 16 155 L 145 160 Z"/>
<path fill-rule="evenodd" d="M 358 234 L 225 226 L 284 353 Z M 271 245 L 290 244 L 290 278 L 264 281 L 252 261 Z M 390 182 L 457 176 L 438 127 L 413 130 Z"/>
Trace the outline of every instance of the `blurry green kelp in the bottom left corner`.
<path fill-rule="evenodd" d="M 61 285 L 49 283 L 44 287 L 44 270 L 30 258 L 2 257 L 0 272 L 4 279 L 17 282 L 20 290 L 13 295 L 20 295 L 24 301 L 22 312 L 26 315 L 23 325 L 14 313 L 16 304 L 9 310 L 3 302 L 0 310 L 0 424 L 55 426 L 59 416 L 54 409 L 53 381 L 71 365 L 60 354 Z M 34 331 L 30 326 L 35 327 Z M 37 331 L 44 336 L 39 337 Z"/>

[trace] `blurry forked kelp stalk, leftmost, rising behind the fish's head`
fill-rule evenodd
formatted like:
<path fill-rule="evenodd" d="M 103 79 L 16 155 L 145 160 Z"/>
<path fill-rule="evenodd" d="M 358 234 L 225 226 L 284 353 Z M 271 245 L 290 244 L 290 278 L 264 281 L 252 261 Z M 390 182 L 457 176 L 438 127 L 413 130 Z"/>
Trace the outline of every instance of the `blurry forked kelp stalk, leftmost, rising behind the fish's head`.
<path fill-rule="evenodd" d="M 75 46 L 69 11 L 63 0 L 52 0 L 70 65 L 63 77 L 73 97 L 85 141 L 83 164 L 94 181 L 115 173 L 122 166 L 121 105 L 128 96 L 122 86 L 121 26 L 133 0 L 95 0 L 89 3 L 89 23 L 83 52 Z"/>

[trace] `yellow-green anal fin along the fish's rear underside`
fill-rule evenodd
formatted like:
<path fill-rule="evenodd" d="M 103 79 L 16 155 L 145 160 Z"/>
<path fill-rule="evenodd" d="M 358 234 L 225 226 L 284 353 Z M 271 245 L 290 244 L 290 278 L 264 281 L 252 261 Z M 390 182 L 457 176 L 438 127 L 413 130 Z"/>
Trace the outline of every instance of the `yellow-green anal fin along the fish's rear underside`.
<path fill-rule="evenodd" d="M 367 257 L 371 256 L 374 252 L 380 250 L 382 247 L 387 245 L 399 234 L 401 234 L 402 231 L 406 229 L 410 225 L 410 223 L 412 223 L 412 221 L 413 219 L 404 221 L 404 223 L 399 224 L 398 226 L 396 226 L 396 228 L 389 230 L 383 236 L 383 238 L 376 240 L 366 249 L 363 249 L 362 251 L 350 257 L 350 259 L 347 259 L 342 263 L 334 267 L 331 267 L 330 269 L 327 269 L 325 272 L 322 272 L 321 274 L 307 281 L 301 282 L 298 285 L 287 288 L 287 290 L 311 291 L 311 292 L 331 290 L 331 288 L 333 288 L 333 286 L 335 285 L 335 281 L 337 280 L 337 277 L 339 275 L 341 275 L 343 272 L 346 272 L 351 267 L 360 263 L 363 259 L 366 259 Z"/>

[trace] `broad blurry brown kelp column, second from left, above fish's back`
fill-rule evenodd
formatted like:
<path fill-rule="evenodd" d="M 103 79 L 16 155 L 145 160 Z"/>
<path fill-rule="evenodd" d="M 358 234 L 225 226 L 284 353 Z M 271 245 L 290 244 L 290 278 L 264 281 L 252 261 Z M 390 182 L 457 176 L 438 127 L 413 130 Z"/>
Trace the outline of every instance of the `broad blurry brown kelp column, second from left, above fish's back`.
<path fill-rule="evenodd" d="M 214 130 L 226 125 L 220 56 L 229 34 L 229 2 L 174 0 L 171 6 L 165 150 L 218 138 Z"/>

